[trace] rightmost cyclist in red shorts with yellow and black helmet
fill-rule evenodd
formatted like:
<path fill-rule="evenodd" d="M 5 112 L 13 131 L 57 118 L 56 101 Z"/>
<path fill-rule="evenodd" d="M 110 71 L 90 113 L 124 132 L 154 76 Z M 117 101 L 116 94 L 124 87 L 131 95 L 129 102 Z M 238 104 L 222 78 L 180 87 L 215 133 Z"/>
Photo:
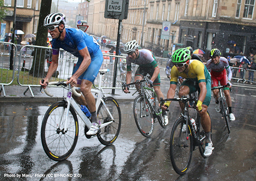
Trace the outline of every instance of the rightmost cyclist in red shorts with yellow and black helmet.
<path fill-rule="evenodd" d="M 211 74 L 211 87 L 217 87 L 219 82 L 221 85 L 229 84 L 229 87 L 232 86 L 230 80 L 232 78 L 232 72 L 228 63 L 228 60 L 225 57 L 221 57 L 221 52 L 218 49 L 212 49 L 210 51 L 211 59 L 207 61 L 206 67 Z M 226 73 L 227 70 L 227 73 Z M 229 109 L 229 119 L 230 121 L 236 120 L 231 109 L 231 97 L 229 94 L 229 87 L 224 87 L 224 94 L 227 100 L 228 109 Z M 215 109 L 217 112 L 220 112 L 219 104 L 219 89 L 212 90 L 215 98 Z"/>

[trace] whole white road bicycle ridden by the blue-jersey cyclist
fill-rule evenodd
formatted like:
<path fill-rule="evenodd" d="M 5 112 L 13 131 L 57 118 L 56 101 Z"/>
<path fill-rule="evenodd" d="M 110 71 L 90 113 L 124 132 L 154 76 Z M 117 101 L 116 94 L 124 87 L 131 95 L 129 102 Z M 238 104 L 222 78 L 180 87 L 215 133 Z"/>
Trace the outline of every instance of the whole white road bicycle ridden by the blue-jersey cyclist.
<path fill-rule="evenodd" d="M 102 79 L 109 70 L 100 70 L 99 79 Z M 84 134 L 88 139 L 97 137 L 103 145 L 113 144 L 121 128 L 121 111 L 117 100 L 113 97 L 105 97 L 101 88 L 101 81 L 97 89 L 91 89 L 97 96 L 96 110 L 100 121 L 100 131 L 96 135 L 87 135 L 91 128 L 90 119 L 84 114 L 80 106 L 72 98 L 81 96 L 76 92 L 75 87 L 71 87 L 66 82 L 49 82 L 49 85 L 62 86 L 68 89 L 67 98 L 56 102 L 47 110 L 41 126 L 41 142 L 46 154 L 54 161 L 66 160 L 74 151 L 78 139 L 78 119 L 77 115 L 84 122 Z M 79 88 L 78 88 L 79 89 Z M 45 93 L 53 96 L 45 89 Z"/>

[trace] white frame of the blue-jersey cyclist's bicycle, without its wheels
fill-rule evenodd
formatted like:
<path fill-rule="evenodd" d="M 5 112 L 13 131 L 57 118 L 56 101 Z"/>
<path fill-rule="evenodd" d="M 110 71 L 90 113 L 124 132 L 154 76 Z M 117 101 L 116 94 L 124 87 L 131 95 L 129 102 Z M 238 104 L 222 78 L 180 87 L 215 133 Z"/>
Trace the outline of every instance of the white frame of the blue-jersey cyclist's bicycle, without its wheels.
<path fill-rule="evenodd" d="M 97 89 L 91 89 L 91 92 L 92 93 L 96 93 L 97 94 L 97 100 L 96 100 L 96 110 L 98 110 L 99 108 L 99 105 L 100 103 L 102 102 L 102 104 L 104 105 L 105 109 L 108 111 L 108 115 L 111 117 L 111 120 L 114 120 L 113 116 L 111 115 L 108 107 L 106 106 L 104 100 L 102 99 L 104 97 L 104 92 L 101 88 L 101 79 L 102 79 L 102 75 L 106 72 L 109 72 L 108 69 L 104 69 L 104 70 L 99 70 L 99 86 Z M 49 82 L 49 85 L 55 85 L 56 83 L 58 82 Z M 67 98 L 65 99 L 67 101 L 67 110 L 70 109 L 70 105 L 72 105 L 72 107 L 75 109 L 76 111 L 76 114 L 79 115 L 79 117 L 82 119 L 82 121 L 84 122 L 84 124 L 86 124 L 86 126 L 88 127 L 88 129 L 91 128 L 91 121 L 89 120 L 89 118 L 87 118 L 87 116 L 83 113 L 83 111 L 80 109 L 80 107 L 78 106 L 78 104 L 76 103 L 76 101 L 72 98 L 72 93 L 74 93 L 75 96 L 77 97 L 80 97 L 81 94 L 77 93 L 75 89 L 79 89 L 79 88 L 73 88 L 70 86 L 70 84 L 68 85 L 69 86 L 69 92 L 67 94 Z M 45 93 L 48 95 L 48 96 L 53 96 L 52 94 L 49 94 L 49 92 L 47 91 L 47 89 L 45 89 Z M 66 112 L 66 115 L 63 115 L 64 114 L 64 111 L 65 109 L 63 109 L 63 112 L 61 114 L 61 117 L 63 118 L 63 116 L 65 116 L 65 119 L 60 119 L 60 121 L 64 121 L 65 122 L 65 126 L 64 126 L 64 131 L 67 132 L 68 128 L 67 128 L 67 121 L 68 120 L 68 116 L 69 116 L 69 111 Z M 110 122 L 107 122 L 107 123 L 103 123 L 103 124 L 100 124 L 100 129 L 105 127 L 105 126 L 108 126 L 109 124 L 113 123 L 113 121 L 110 121 Z M 61 125 L 59 123 L 59 125 Z"/>

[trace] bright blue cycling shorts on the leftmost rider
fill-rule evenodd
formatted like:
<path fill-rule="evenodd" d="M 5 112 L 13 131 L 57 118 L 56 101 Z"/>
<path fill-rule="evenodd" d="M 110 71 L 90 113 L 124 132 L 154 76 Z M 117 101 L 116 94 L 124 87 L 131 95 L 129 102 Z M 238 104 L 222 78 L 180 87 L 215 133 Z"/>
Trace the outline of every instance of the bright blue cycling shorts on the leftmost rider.
<path fill-rule="evenodd" d="M 81 56 L 78 57 L 78 61 L 76 63 L 76 66 L 73 70 L 73 74 L 78 70 L 79 66 L 82 63 L 83 58 Z M 93 55 L 91 55 L 91 64 L 88 66 L 87 70 L 78 77 L 77 83 L 81 84 L 81 80 L 89 80 L 90 82 L 94 82 L 95 78 L 97 77 L 100 66 L 103 62 L 103 55 L 100 49 Z M 72 74 L 72 75 L 73 75 Z"/>

